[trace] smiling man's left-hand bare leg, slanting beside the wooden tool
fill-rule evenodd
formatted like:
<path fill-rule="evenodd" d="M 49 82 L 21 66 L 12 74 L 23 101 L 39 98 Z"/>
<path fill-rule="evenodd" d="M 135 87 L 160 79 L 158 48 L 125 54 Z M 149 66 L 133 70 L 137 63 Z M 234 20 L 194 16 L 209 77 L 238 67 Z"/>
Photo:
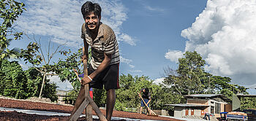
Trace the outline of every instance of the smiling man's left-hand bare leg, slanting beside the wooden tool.
<path fill-rule="evenodd" d="M 69 116 L 69 119 L 72 117 L 73 114 L 75 114 L 75 112 L 78 110 L 79 106 L 83 103 L 83 100 L 85 99 L 84 87 L 85 86 L 81 86 L 81 88 L 80 88 L 80 91 L 78 93 L 78 98 L 75 101 L 75 106 L 74 106 L 74 109 L 72 110 L 72 113 Z"/>

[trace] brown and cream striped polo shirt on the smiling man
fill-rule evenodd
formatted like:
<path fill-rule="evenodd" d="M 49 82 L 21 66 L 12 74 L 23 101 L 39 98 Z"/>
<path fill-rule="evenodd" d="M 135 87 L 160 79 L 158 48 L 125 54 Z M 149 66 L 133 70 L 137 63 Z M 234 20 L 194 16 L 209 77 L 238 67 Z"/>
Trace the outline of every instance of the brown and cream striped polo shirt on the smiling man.
<path fill-rule="evenodd" d="M 109 55 L 112 54 L 110 65 L 119 63 L 119 50 L 118 42 L 114 31 L 104 23 L 99 23 L 99 31 L 96 39 L 91 39 L 89 28 L 86 27 L 86 23 L 83 23 L 81 38 L 86 39 L 87 44 L 91 46 L 91 66 L 93 69 L 97 69 L 99 64 L 104 60 L 104 52 Z"/>

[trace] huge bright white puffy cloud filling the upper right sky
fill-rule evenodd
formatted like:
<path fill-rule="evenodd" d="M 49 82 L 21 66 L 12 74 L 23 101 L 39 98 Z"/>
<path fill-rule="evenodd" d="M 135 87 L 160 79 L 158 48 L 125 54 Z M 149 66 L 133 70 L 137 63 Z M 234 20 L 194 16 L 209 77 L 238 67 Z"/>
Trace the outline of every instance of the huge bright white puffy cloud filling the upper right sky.
<path fill-rule="evenodd" d="M 255 84 L 255 13 L 255 0 L 208 0 L 195 23 L 181 31 L 189 39 L 185 51 L 200 53 L 206 71 L 231 77 L 239 84 Z"/>

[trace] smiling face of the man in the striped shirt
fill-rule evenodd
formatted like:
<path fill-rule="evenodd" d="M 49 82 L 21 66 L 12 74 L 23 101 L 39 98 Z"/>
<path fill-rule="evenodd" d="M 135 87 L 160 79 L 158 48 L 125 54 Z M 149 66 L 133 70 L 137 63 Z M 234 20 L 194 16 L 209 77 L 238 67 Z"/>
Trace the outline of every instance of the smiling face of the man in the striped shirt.
<path fill-rule="evenodd" d="M 91 12 L 89 15 L 87 15 L 85 20 L 86 20 L 86 26 L 90 30 L 94 30 L 95 28 L 99 27 L 100 16 L 98 17 L 98 15 L 94 15 L 94 12 Z"/>

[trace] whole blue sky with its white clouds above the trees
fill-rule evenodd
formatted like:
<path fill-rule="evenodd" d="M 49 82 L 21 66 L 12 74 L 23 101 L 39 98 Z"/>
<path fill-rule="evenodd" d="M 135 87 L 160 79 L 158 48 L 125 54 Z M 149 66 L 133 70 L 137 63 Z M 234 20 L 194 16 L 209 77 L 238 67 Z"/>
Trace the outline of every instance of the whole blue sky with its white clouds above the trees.
<path fill-rule="evenodd" d="M 73 51 L 83 46 L 80 7 L 85 1 L 26 0 L 18 27 L 45 46 L 66 43 Z M 255 1 L 246 0 L 95 0 L 102 23 L 118 39 L 120 74 L 144 75 L 161 81 L 163 69 L 177 68 L 186 51 L 206 60 L 206 71 L 231 77 L 233 83 L 256 87 Z M 12 47 L 26 47 L 26 37 Z M 58 58 L 58 57 L 57 57 Z M 26 65 L 23 65 L 26 67 Z M 57 78 L 54 78 L 57 79 Z M 254 93 L 254 90 L 249 90 Z"/>

